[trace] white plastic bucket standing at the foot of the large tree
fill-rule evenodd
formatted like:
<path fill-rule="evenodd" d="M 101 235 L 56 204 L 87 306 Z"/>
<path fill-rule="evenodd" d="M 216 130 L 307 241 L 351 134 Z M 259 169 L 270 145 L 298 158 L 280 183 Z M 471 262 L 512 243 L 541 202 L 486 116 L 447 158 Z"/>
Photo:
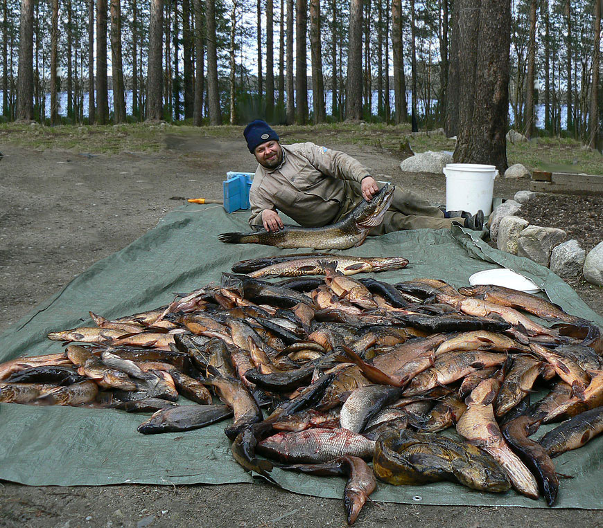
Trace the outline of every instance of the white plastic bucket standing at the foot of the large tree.
<path fill-rule="evenodd" d="M 498 170 L 494 165 L 474 163 L 448 163 L 446 175 L 446 210 L 467 211 L 475 215 L 478 210 L 488 217 L 492 212 L 494 179 Z"/>

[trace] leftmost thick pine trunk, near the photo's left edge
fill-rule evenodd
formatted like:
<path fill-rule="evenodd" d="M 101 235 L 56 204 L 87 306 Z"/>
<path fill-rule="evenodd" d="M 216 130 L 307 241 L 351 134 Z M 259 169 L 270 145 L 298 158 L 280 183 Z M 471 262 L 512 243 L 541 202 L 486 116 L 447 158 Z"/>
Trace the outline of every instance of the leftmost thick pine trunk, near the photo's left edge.
<path fill-rule="evenodd" d="M 33 0 L 21 0 L 19 73 L 17 73 L 17 120 L 19 121 L 33 120 L 33 4 Z"/>

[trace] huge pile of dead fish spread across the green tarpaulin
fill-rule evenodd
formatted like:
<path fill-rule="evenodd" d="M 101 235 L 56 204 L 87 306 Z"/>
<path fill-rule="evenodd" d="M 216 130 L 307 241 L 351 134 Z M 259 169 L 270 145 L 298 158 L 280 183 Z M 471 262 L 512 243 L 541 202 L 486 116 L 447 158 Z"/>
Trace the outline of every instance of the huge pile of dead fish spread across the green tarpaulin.
<path fill-rule="evenodd" d="M 238 262 L 168 306 L 91 313 L 96 327 L 49 334 L 66 351 L 0 365 L 0 401 L 152 411 L 143 434 L 232 417 L 225 433 L 246 471 L 345 475 L 349 523 L 376 479 L 513 487 L 552 505 L 552 458 L 603 430 L 600 329 L 499 286 L 351 276 L 407 264 L 325 253 Z"/>

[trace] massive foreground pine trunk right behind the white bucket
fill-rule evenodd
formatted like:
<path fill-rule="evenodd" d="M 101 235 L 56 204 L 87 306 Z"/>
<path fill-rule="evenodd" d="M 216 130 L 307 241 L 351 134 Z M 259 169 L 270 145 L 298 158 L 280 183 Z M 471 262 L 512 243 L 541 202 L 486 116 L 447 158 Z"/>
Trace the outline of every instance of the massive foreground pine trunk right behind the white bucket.
<path fill-rule="evenodd" d="M 462 0 L 460 15 L 460 78 L 466 90 L 460 98 L 460 131 L 455 163 L 495 165 L 507 169 L 509 113 L 509 0 Z"/>

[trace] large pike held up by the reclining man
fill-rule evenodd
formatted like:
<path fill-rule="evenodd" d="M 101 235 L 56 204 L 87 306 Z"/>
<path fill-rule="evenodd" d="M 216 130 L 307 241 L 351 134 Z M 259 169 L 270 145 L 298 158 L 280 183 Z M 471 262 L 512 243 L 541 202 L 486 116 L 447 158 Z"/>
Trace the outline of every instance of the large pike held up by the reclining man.
<path fill-rule="evenodd" d="M 394 185 L 386 184 L 371 201 L 362 200 L 349 215 L 331 226 L 286 226 L 274 233 L 266 230 L 257 233 L 221 233 L 218 240 L 226 244 L 265 244 L 278 248 L 353 248 L 363 244 L 369 231 L 381 224 L 393 197 Z"/>

